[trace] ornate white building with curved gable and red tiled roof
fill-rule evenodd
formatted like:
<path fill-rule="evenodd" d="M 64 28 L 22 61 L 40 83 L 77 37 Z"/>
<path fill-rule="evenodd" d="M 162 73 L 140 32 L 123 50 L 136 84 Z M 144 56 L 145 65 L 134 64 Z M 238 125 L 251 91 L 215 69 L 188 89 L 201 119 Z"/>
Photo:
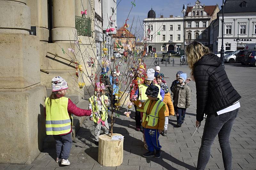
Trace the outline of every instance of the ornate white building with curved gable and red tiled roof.
<path fill-rule="evenodd" d="M 219 11 L 217 4 L 205 6 L 198 0 L 194 6 L 188 6 L 185 15 L 185 45 L 196 40 L 205 46 L 209 46 L 209 25 L 212 20 L 217 18 Z"/>

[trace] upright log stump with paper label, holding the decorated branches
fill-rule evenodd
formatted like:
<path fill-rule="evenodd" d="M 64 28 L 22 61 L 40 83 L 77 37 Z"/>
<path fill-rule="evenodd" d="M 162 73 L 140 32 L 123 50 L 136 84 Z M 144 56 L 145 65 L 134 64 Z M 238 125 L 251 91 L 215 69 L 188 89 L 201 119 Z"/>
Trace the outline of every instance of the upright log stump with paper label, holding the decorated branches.
<path fill-rule="evenodd" d="M 118 133 L 113 135 L 123 136 Z M 103 166 L 119 166 L 123 163 L 124 139 L 111 140 L 110 134 L 99 136 L 98 162 Z"/>

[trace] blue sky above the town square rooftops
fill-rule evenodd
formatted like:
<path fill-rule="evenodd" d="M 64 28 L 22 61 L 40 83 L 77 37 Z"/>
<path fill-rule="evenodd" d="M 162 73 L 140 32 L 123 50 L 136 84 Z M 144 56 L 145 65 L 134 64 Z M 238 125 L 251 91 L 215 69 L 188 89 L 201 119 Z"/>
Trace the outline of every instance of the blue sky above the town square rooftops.
<path fill-rule="evenodd" d="M 131 10 L 132 3 L 134 0 L 117 0 L 117 27 L 121 27 L 124 25 L 125 20 Z M 219 8 L 221 8 L 222 0 L 199 0 L 201 4 L 205 5 L 219 5 Z M 137 27 L 137 30 L 140 28 L 140 22 L 142 24 L 142 21 L 144 18 L 148 17 L 148 11 L 151 10 L 151 5 L 153 10 L 156 12 L 156 17 L 159 17 L 160 14 L 164 15 L 165 17 L 169 17 L 170 15 L 173 16 L 183 16 L 181 13 L 183 4 L 189 4 L 190 6 L 195 5 L 196 0 L 135 0 L 136 6 L 132 7 L 132 11 L 129 15 L 129 20 L 127 21 L 127 24 L 132 24 L 132 19 L 134 17 L 133 22 L 133 31 L 132 33 L 135 33 L 135 28 Z M 140 21 L 139 21 L 139 19 Z M 138 21 L 137 21 L 138 20 Z M 137 25 L 137 26 L 136 26 Z M 130 30 L 128 28 L 128 30 Z M 142 32 L 142 31 L 140 31 Z M 141 33 L 140 33 L 141 34 Z M 138 37 L 138 35 L 137 35 Z"/>

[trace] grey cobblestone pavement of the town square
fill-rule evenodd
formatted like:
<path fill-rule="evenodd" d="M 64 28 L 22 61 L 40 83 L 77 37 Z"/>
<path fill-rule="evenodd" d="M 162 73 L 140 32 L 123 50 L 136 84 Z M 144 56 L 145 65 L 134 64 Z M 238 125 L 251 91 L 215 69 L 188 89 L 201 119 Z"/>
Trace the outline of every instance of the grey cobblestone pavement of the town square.
<path fill-rule="evenodd" d="M 150 67 L 152 58 L 146 61 L 147 67 Z M 189 74 L 188 66 L 179 66 L 179 59 L 175 59 L 177 64 L 160 64 L 161 72 L 165 74 L 165 80 L 170 86 L 175 79 L 177 71 L 181 70 Z M 153 64 L 152 64 L 153 65 Z M 151 66 L 155 68 L 155 66 Z M 238 117 L 233 125 L 230 135 L 230 145 L 233 153 L 233 169 L 256 169 L 256 116 L 255 116 L 255 67 L 245 67 L 240 64 L 225 66 L 228 77 L 242 96 L 240 99 L 241 108 Z M 142 133 L 134 130 L 134 118 L 120 116 L 117 119 L 114 132 L 121 133 L 124 137 L 124 161 L 117 167 L 101 166 L 98 162 L 98 147 L 94 145 L 93 122 L 86 118 L 83 126 L 77 133 L 76 140 L 73 142 L 69 160 L 70 166 L 61 167 L 55 162 L 55 150 L 45 150 L 31 165 L 9 165 L 0 164 L 0 169 L 31 169 L 31 170 L 60 170 L 66 169 L 109 169 L 109 170 L 164 170 L 164 169 L 195 169 L 197 155 L 201 144 L 201 137 L 204 128 L 202 126 L 196 131 L 196 88 L 195 82 L 190 82 L 192 89 L 192 103 L 187 109 L 185 122 L 182 127 L 176 128 L 176 117 L 169 117 L 167 136 L 160 136 L 162 145 L 162 157 L 143 158 L 142 154 L 146 152 L 143 147 Z M 134 113 L 133 113 L 134 116 Z M 212 145 L 211 158 L 207 164 L 207 169 L 224 169 L 221 150 L 218 139 L 215 139 Z"/>

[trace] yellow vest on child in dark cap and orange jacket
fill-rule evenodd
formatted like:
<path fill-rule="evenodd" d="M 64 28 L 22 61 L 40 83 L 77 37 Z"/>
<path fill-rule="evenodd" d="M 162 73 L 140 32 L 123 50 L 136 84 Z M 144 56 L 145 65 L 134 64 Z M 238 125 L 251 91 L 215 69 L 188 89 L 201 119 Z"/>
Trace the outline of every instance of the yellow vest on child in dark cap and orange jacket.
<path fill-rule="evenodd" d="M 156 104 L 154 105 L 153 109 L 151 110 L 151 113 L 149 115 L 147 115 L 146 112 L 147 112 L 147 109 L 148 109 L 149 101 L 150 100 L 148 99 L 144 103 L 144 111 L 143 111 L 142 122 L 147 121 L 148 126 L 156 126 L 156 124 L 158 122 L 158 119 L 159 119 L 158 112 L 164 106 L 164 102 L 162 102 L 161 100 L 158 100 L 156 102 Z M 145 118 L 146 118 L 146 120 L 145 120 Z"/>

